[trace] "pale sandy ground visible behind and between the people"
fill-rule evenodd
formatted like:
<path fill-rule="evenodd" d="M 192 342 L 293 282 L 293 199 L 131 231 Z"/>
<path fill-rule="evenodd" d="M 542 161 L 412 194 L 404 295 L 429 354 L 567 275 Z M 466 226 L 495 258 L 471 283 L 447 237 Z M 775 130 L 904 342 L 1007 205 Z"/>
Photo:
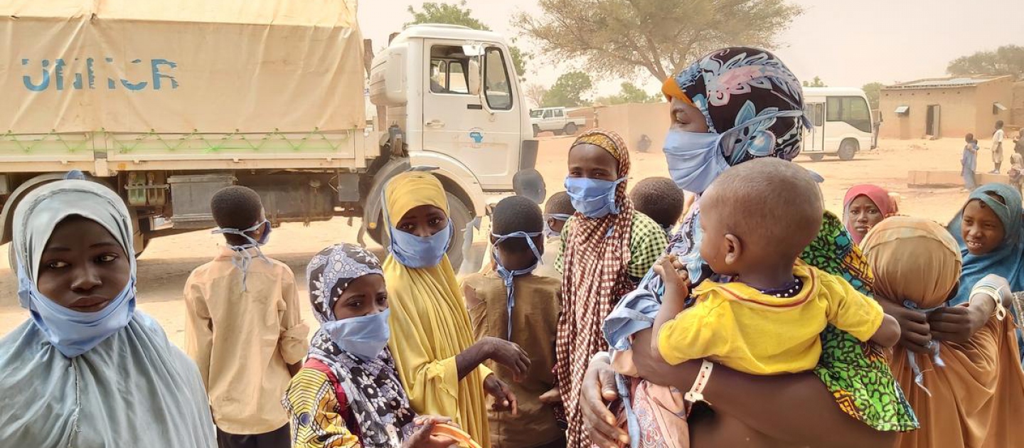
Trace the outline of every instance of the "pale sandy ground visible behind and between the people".
<path fill-rule="evenodd" d="M 538 170 L 547 180 L 549 193 L 562 189 L 565 176 L 565 156 L 571 138 L 550 138 L 541 143 Z M 935 141 L 883 140 L 880 148 L 861 152 L 854 161 L 840 162 L 826 159 L 814 163 L 806 156 L 798 162 L 825 178 L 822 189 L 829 210 L 841 212 L 843 194 L 857 183 L 874 183 L 902 195 L 901 212 L 907 215 L 947 222 L 967 197 L 961 189 L 920 189 L 906 185 L 910 170 L 959 171 L 963 142 L 956 139 Z M 979 171 L 992 168 L 989 142 L 981 142 Z M 660 151 L 634 152 L 634 180 L 652 176 L 667 176 L 665 158 Z M 1009 156 L 1009 155 L 1008 155 Z M 1008 161 L 1009 162 L 1009 161 Z M 355 241 L 358 222 L 349 226 L 347 220 L 330 222 L 284 224 L 274 229 L 264 253 L 287 263 L 296 273 L 300 286 L 304 286 L 305 265 L 321 249 L 338 241 Z M 216 252 L 221 237 L 208 231 L 168 236 L 154 240 L 138 262 L 138 308 L 163 324 L 171 341 L 179 347 L 184 342 L 184 303 L 181 290 L 188 273 L 207 262 Z M 482 251 L 482 244 L 476 244 Z M 380 253 L 381 249 L 376 250 Z M 0 249 L 4 254 L 6 248 Z M 28 313 L 16 307 L 16 281 L 7 266 L 7 257 L 0 257 L 0 334 L 6 334 L 28 318 Z M 302 297 L 306 292 L 303 287 Z M 305 320 L 316 327 L 309 307 L 303 306 Z"/>

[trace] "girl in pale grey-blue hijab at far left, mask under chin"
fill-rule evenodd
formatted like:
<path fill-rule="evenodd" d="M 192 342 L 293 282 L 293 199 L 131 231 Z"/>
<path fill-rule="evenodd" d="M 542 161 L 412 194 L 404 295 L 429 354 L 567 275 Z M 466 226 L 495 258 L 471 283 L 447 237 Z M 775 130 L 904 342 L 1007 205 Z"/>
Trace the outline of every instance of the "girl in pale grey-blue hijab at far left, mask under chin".
<path fill-rule="evenodd" d="M 63 180 L 14 212 L 18 299 L 0 340 L 0 441 L 10 447 L 216 446 L 196 365 L 135 311 L 128 209 Z"/>

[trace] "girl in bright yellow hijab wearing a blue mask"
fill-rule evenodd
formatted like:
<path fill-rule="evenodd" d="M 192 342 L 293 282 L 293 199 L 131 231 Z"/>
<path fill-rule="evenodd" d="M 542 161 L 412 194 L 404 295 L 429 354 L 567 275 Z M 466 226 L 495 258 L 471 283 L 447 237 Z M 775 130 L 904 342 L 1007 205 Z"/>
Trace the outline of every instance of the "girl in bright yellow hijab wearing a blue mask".
<path fill-rule="evenodd" d="M 516 375 L 529 358 L 519 346 L 496 338 L 473 341 L 459 283 L 445 252 L 452 241 L 447 196 L 436 177 L 402 173 L 384 189 L 390 255 L 384 278 L 391 307 L 394 356 L 413 409 L 451 416 L 483 448 L 490 446 L 486 399 L 496 410 L 516 412 L 515 396 L 483 365 L 490 359 Z"/>

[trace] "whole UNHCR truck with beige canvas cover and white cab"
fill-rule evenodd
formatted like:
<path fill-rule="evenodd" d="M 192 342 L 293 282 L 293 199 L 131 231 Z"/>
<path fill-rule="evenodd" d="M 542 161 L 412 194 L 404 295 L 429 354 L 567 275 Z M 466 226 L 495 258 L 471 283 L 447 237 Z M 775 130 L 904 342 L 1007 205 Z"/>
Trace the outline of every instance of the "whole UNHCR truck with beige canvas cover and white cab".
<path fill-rule="evenodd" d="M 467 225 L 537 161 L 508 44 L 413 26 L 374 55 L 355 8 L 0 4 L 0 243 L 26 194 L 78 170 L 124 198 L 138 253 L 215 227 L 210 198 L 228 185 L 256 190 L 274 226 L 359 219 L 359 242 L 386 245 L 385 184 L 429 167 L 450 199 L 458 269 Z"/>

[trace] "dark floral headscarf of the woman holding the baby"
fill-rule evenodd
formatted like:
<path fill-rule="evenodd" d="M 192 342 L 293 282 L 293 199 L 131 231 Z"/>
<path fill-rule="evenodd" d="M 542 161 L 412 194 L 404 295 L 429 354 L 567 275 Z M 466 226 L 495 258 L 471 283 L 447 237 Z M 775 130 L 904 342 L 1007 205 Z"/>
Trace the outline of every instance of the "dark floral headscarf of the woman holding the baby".
<path fill-rule="evenodd" d="M 774 54 L 757 48 L 714 51 L 666 80 L 662 92 L 700 109 L 710 130 L 718 133 L 761 116 L 804 108 L 803 87 L 797 76 Z M 800 153 L 806 120 L 756 122 L 739 131 L 735 139 L 722 141 L 722 155 L 729 166 L 764 156 L 792 161 Z M 736 146 L 737 142 L 742 143 Z M 699 197 L 683 221 L 680 235 L 670 245 L 682 255 L 690 278 L 701 278 Z"/>

